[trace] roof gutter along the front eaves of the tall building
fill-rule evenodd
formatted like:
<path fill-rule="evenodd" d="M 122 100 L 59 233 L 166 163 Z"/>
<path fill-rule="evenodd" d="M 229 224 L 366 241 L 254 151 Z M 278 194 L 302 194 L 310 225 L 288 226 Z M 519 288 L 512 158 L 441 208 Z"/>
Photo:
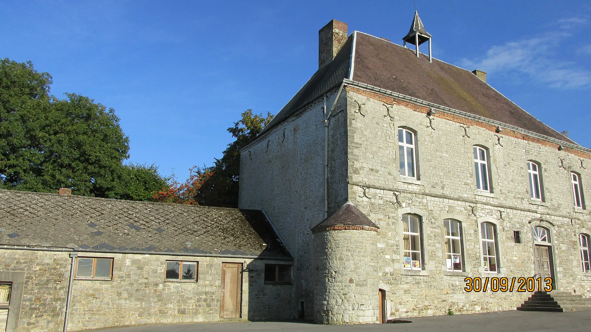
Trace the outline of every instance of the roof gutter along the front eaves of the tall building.
<path fill-rule="evenodd" d="M 378 93 L 381 93 L 382 95 L 392 96 L 397 99 L 405 100 L 407 102 L 411 102 L 411 103 L 415 103 L 418 105 L 423 105 L 423 106 L 427 106 L 430 108 L 434 108 L 440 112 L 461 116 L 462 118 L 474 119 L 474 120 L 477 120 L 480 122 L 488 123 L 489 125 L 498 126 L 498 127 L 504 128 L 504 129 L 511 129 L 512 131 L 519 132 L 524 135 L 543 139 L 544 141 L 547 141 L 547 142 L 551 142 L 554 144 L 562 145 L 563 147 L 568 147 L 568 148 L 571 148 L 574 150 L 578 150 L 581 152 L 586 152 L 586 153 L 591 154 L 591 149 L 589 149 L 589 148 L 585 148 L 580 145 L 572 144 L 572 143 L 569 143 L 566 141 L 561 141 L 560 139 L 546 136 L 543 134 L 538 134 L 537 132 L 528 131 L 527 129 L 519 128 L 518 126 L 514 126 L 514 125 L 509 125 L 508 123 L 485 118 L 484 116 L 479 116 L 479 115 L 475 115 L 472 113 L 463 112 L 462 110 L 457 110 L 457 109 L 449 108 L 447 106 L 438 105 L 436 103 L 427 102 L 426 100 L 423 100 L 423 99 L 418 99 L 415 97 L 402 95 L 401 93 L 382 89 L 381 87 L 372 86 L 369 84 L 353 81 L 350 79 L 343 79 L 343 82 L 345 82 L 346 84 L 349 84 L 350 86 L 356 86 L 356 87 L 360 87 L 361 89 L 369 90 L 372 92 L 378 92 Z"/>

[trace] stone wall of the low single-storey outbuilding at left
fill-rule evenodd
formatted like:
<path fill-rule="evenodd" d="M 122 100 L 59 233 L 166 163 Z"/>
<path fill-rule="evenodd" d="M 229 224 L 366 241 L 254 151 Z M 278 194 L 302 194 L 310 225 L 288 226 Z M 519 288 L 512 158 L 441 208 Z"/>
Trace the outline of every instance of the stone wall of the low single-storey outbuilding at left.
<path fill-rule="evenodd" d="M 293 285 L 265 285 L 265 263 L 235 258 L 79 253 L 113 258 L 110 281 L 73 282 L 69 330 L 151 323 L 220 320 L 222 262 L 242 263 L 242 317 L 291 320 Z M 199 262 L 197 282 L 164 279 L 165 261 Z M 23 332 L 63 329 L 70 276 L 69 252 L 0 250 L 2 271 L 24 271 L 20 328 Z"/>

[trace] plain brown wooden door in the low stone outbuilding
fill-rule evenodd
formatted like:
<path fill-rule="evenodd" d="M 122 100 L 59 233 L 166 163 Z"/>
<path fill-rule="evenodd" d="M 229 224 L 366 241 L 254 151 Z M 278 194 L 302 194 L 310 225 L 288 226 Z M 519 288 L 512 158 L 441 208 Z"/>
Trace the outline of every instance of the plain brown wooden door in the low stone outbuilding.
<path fill-rule="evenodd" d="M 240 318 L 241 302 L 242 264 L 222 263 L 220 318 Z"/>

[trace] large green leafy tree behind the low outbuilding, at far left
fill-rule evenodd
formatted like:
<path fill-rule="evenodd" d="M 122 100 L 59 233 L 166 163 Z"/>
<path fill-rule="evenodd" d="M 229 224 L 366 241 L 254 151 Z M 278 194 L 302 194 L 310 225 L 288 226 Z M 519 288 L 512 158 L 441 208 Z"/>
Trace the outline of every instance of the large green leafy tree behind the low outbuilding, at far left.
<path fill-rule="evenodd" d="M 74 93 L 57 99 L 50 84 L 30 62 L 0 61 L 2 187 L 119 196 L 129 139 L 115 111 Z"/>

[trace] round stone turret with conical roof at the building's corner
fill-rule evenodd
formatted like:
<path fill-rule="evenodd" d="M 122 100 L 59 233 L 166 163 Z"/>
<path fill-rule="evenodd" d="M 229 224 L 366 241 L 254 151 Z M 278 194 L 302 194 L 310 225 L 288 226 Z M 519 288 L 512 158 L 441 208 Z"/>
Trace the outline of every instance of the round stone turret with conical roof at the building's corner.
<path fill-rule="evenodd" d="M 312 232 L 316 323 L 378 323 L 378 226 L 348 202 Z"/>

